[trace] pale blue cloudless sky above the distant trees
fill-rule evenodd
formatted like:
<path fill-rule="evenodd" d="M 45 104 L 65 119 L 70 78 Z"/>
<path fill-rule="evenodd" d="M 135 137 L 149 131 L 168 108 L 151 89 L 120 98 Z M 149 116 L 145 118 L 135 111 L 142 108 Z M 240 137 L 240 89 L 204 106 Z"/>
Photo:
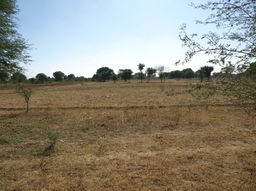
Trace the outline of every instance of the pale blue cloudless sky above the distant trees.
<path fill-rule="evenodd" d="M 92 77 L 98 68 L 138 72 L 164 65 L 171 70 L 198 70 L 207 55 L 196 55 L 184 66 L 186 48 L 179 28 L 188 33 L 206 33 L 210 26 L 195 24 L 209 11 L 189 6 L 191 0 L 18 0 L 19 33 L 34 44 L 29 51 L 34 62 L 26 65 L 28 77 L 62 71 L 66 75 Z M 195 4 L 206 3 L 197 0 Z M 213 27 L 213 26 L 212 26 Z M 216 30 L 213 28 L 213 30 Z M 200 38 L 200 37 L 198 37 Z M 219 68 L 215 66 L 215 71 Z"/>

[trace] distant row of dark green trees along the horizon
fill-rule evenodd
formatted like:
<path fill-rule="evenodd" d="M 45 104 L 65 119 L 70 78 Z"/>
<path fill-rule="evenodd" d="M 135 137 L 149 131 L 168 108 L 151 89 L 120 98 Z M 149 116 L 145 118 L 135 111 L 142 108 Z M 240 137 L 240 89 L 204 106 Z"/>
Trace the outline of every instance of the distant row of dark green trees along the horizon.
<path fill-rule="evenodd" d="M 148 79 L 147 82 L 152 78 L 159 78 L 161 82 L 165 82 L 165 79 L 192 79 L 197 78 L 200 80 L 206 79 L 210 80 L 211 77 L 224 77 L 225 74 L 223 72 L 213 72 L 213 66 L 202 66 L 199 70 L 193 71 L 191 68 L 186 68 L 183 70 L 173 70 L 169 72 L 169 68 L 159 65 L 154 68 L 144 67 L 145 64 L 139 63 L 138 65 L 139 72 L 133 74 L 131 69 L 119 69 L 118 73 L 115 74 L 114 70 L 108 67 L 99 68 L 93 77 L 86 78 L 84 76 L 76 77 L 74 74 L 65 75 L 61 71 L 56 71 L 53 73 L 53 77 L 47 77 L 44 73 L 39 73 L 36 77 L 32 77 L 27 79 L 27 77 L 21 72 L 15 72 L 9 79 L 9 82 L 15 83 L 44 83 L 44 82 L 60 82 L 60 81 L 96 81 L 96 82 L 105 82 L 109 80 L 113 80 L 114 83 L 118 80 L 124 80 L 130 82 L 131 79 L 140 79 L 141 82 L 143 79 Z M 211 74 L 212 73 L 212 74 Z M 253 76 L 256 73 L 256 62 L 252 62 L 250 67 L 247 70 L 244 70 L 243 73 L 234 74 L 234 76 Z"/>

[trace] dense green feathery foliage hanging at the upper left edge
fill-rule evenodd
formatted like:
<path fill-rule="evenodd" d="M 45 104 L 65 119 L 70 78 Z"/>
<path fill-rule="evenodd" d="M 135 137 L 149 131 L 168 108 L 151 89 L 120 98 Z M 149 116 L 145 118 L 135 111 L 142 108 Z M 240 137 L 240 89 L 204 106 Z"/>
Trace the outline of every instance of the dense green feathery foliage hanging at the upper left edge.
<path fill-rule="evenodd" d="M 32 60 L 28 54 L 31 45 L 18 33 L 19 13 L 16 0 L 0 1 L 0 81 L 6 83 L 15 72 L 22 72 L 20 63 L 28 64 Z"/>

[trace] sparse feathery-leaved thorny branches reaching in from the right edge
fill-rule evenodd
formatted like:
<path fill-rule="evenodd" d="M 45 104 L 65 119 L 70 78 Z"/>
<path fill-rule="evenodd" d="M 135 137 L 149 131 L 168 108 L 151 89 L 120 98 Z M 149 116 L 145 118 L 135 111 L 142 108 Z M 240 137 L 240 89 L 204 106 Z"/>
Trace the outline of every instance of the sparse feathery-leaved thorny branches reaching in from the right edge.
<path fill-rule="evenodd" d="M 197 20 L 196 23 L 213 24 L 219 30 L 198 37 L 196 33 L 187 34 L 184 24 L 179 35 L 183 46 L 188 48 L 182 64 L 190 61 L 197 53 L 203 52 L 212 55 L 208 62 L 220 66 L 220 72 L 223 73 L 221 86 L 202 81 L 192 86 L 189 92 L 194 93 L 199 100 L 202 98 L 202 102 L 206 104 L 230 101 L 243 107 L 252 116 L 256 116 L 256 80 L 241 74 L 250 68 L 250 63 L 256 58 L 255 5 L 255 0 L 221 0 L 191 4 L 194 8 L 212 11 L 205 21 Z M 180 61 L 176 64 L 180 64 Z M 199 88 L 201 91 L 198 91 Z M 224 99 L 214 99 L 215 94 L 221 94 Z"/>

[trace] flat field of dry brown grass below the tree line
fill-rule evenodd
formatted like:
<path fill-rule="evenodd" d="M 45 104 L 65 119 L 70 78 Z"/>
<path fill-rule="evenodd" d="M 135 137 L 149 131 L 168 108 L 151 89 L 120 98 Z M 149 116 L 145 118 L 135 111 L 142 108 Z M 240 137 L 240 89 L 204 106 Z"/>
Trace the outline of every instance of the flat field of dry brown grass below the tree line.
<path fill-rule="evenodd" d="M 0 190 L 255 190 L 255 119 L 160 84 L 0 86 Z"/>

